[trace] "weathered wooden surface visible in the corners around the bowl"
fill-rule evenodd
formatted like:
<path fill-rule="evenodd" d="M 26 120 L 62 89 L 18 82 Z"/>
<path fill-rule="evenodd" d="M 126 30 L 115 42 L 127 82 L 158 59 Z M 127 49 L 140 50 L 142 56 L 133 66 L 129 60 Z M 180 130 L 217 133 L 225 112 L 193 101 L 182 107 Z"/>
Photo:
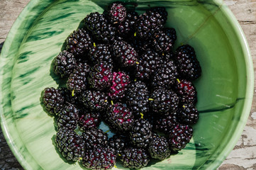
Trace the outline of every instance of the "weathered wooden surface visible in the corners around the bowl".
<path fill-rule="evenodd" d="M 19 13 L 29 0 L 0 0 L 0 51 L 7 34 Z M 211 1 L 211 0 L 209 0 Z M 256 0 L 224 0 L 242 26 L 250 45 L 256 67 Z M 255 89 L 256 92 L 256 89 Z M 0 169 L 23 169 L 11 153 L 0 130 Z M 256 96 L 252 109 L 237 145 L 218 168 L 219 170 L 256 169 Z"/>

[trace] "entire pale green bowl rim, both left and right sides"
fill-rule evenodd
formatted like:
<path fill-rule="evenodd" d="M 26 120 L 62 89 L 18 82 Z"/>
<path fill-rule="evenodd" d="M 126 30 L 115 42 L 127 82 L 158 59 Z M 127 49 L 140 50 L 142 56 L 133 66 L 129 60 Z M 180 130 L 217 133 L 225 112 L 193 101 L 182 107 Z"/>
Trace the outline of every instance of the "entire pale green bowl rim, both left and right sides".
<path fill-rule="evenodd" d="M 252 98 L 253 98 L 253 91 L 254 91 L 254 69 L 253 69 L 253 63 L 252 63 L 252 56 L 250 55 L 250 47 L 247 43 L 245 34 L 243 33 L 243 29 L 241 28 L 240 24 L 238 23 L 232 11 L 230 11 L 228 6 L 225 5 L 225 2 L 223 0 L 213 0 L 213 2 L 216 3 L 218 6 L 220 6 L 221 12 L 230 21 L 232 28 L 234 28 L 235 35 L 239 40 L 241 49 L 243 50 L 243 56 L 246 64 L 247 86 L 246 86 L 246 92 L 245 92 L 245 103 L 243 105 L 243 111 L 240 116 L 240 121 L 238 122 L 238 125 L 237 125 L 238 128 L 236 128 L 235 130 L 236 133 L 230 137 L 230 140 L 228 141 L 226 147 L 218 154 L 216 159 L 213 162 L 211 162 L 211 164 L 209 164 L 207 169 L 217 169 L 218 166 L 221 165 L 223 160 L 226 159 L 228 154 L 230 154 L 230 152 L 233 150 L 233 147 L 235 147 L 235 144 L 238 142 L 239 137 L 242 134 L 243 129 L 245 128 L 245 125 L 247 123 L 247 118 L 250 115 L 250 109 L 252 106 Z M 33 11 L 33 7 L 38 4 L 40 4 L 40 1 L 29 1 L 27 6 L 23 8 L 23 11 L 20 13 L 16 21 L 13 23 L 11 30 L 9 31 L 9 34 L 4 42 L 4 46 L 2 47 L 0 56 L 3 55 L 3 52 L 9 51 L 9 48 L 10 48 L 9 45 L 11 45 L 11 42 L 13 42 L 14 40 L 13 35 L 15 35 L 17 28 L 21 26 L 21 23 L 23 22 L 23 19 L 24 19 L 23 16 L 26 16 L 27 13 L 29 13 L 30 11 Z M 0 61 L 2 61 L 2 57 L 0 57 Z M 0 74 L 0 79 L 4 80 L 4 77 L 2 74 Z M 1 88 L 2 87 L 0 86 L 0 89 Z M 0 94 L 0 100 L 2 97 L 3 97 L 2 94 Z M 1 118 L 1 130 L 4 134 L 7 144 L 9 145 L 11 151 L 13 152 L 13 155 L 16 157 L 16 159 L 21 164 L 21 166 L 23 166 L 24 169 L 33 169 L 33 167 L 30 166 L 30 164 L 23 157 L 23 155 L 20 152 L 18 152 L 18 148 L 15 145 L 13 137 L 8 131 L 8 125 L 4 117 L 2 106 L 0 106 L 0 118 Z"/>

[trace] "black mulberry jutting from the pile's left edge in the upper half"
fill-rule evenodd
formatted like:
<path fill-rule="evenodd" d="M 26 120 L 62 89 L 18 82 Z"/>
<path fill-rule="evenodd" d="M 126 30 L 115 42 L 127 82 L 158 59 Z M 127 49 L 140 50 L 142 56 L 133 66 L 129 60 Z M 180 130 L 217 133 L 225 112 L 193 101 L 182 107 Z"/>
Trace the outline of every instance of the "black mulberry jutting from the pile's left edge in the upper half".
<path fill-rule="evenodd" d="M 73 72 L 75 64 L 74 55 L 64 50 L 55 57 L 53 71 L 62 78 L 69 77 L 69 74 Z"/>

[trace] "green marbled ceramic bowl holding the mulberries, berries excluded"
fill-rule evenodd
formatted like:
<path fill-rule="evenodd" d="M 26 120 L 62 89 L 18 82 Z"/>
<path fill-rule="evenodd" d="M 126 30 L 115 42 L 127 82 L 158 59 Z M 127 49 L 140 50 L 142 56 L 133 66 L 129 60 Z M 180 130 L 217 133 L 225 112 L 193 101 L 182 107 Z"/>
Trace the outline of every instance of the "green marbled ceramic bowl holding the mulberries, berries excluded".
<path fill-rule="evenodd" d="M 0 57 L 1 128 L 25 169 L 82 169 L 65 162 L 54 144 L 54 118 L 40 106 L 45 87 L 61 82 L 50 64 L 62 44 L 106 0 L 35 0 L 18 17 Z M 128 1 L 133 6 L 135 1 Z M 177 30 L 176 47 L 194 46 L 202 76 L 198 89 L 199 123 L 191 142 L 177 155 L 145 169 L 216 169 L 235 146 L 252 103 L 253 69 L 243 30 L 223 1 L 137 1 L 136 10 L 165 6 L 167 26 Z M 123 169 L 117 164 L 118 169 Z"/>

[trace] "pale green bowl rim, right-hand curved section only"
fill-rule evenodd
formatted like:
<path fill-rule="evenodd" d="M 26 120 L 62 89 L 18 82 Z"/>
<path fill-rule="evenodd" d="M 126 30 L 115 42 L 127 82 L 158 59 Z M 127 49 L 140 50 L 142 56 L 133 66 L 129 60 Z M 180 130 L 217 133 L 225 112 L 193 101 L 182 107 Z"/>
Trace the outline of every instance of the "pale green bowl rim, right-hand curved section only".
<path fill-rule="evenodd" d="M 228 18 L 230 21 L 230 25 L 234 29 L 235 35 L 239 40 L 239 44 L 241 45 L 241 49 L 243 50 L 243 55 L 245 59 L 245 71 L 246 71 L 246 91 L 245 91 L 245 102 L 243 105 L 243 111 L 240 115 L 240 121 L 238 121 L 237 128 L 235 128 L 232 136 L 228 140 L 226 147 L 218 154 L 218 157 L 207 167 L 207 169 L 217 169 L 223 161 L 228 157 L 230 152 L 233 150 L 235 145 L 237 144 L 242 132 L 245 128 L 247 123 L 247 119 L 250 115 L 250 110 L 252 107 L 252 98 L 253 98 L 253 91 L 254 91 L 254 69 L 253 69 L 253 62 L 252 56 L 250 54 L 250 47 L 248 45 L 247 39 L 245 37 L 245 33 L 243 32 L 243 28 L 238 23 L 238 20 L 235 18 L 233 12 L 228 8 L 223 0 L 214 0 L 214 2 L 220 6 L 220 10 L 223 15 Z M 228 137 L 228 136 L 227 136 Z M 226 137 L 225 137 L 226 138 Z"/>

